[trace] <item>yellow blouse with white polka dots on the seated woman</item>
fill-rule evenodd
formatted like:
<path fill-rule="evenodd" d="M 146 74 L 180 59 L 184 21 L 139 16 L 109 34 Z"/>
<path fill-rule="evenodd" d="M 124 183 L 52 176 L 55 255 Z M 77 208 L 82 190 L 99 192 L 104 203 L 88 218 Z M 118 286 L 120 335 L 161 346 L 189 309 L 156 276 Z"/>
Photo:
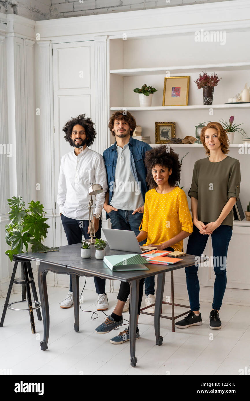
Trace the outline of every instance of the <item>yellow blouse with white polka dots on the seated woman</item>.
<path fill-rule="evenodd" d="M 192 233 L 193 222 L 185 192 L 178 186 L 167 194 L 159 194 L 155 188 L 146 192 L 141 229 L 148 233 L 144 245 L 160 245 L 175 237 L 181 230 Z M 171 247 L 175 251 L 181 251 L 183 240 Z"/>

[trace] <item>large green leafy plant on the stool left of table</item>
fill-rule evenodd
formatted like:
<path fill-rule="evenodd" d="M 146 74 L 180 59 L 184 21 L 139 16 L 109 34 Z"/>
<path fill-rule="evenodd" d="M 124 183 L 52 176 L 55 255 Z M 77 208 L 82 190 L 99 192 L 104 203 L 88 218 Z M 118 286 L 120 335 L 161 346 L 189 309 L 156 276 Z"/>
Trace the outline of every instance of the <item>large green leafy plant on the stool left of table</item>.
<path fill-rule="evenodd" d="M 47 229 L 49 225 L 45 223 L 46 219 L 43 205 L 37 201 L 30 201 L 28 209 L 25 208 L 22 197 L 13 196 L 7 199 L 7 205 L 10 207 L 9 219 L 10 223 L 5 226 L 6 243 L 10 245 L 5 253 L 10 260 L 13 260 L 13 255 L 24 253 L 23 248 L 28 251 L 28 243 L 32 244 L 32 252 L 47 253 L 48 251 L 58 251 L 58 247 L 49 248 L 43 245 L 47 237 Z"/>

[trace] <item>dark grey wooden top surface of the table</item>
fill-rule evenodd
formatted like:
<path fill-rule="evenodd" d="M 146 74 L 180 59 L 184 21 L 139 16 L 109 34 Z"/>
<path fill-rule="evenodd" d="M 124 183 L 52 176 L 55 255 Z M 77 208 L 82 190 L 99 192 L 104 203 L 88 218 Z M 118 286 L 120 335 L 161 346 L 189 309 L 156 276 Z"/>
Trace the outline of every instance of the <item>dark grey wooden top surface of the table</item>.
<path fill-rule="evenodd" d="M 59 247 L 59 252 L 48 252 L 48 253 L 19 253 L 18 257 L 23 257 L 30 260 L 40 259 L 43 263 L 53 264 L 55 266 L 64 266 L 67 269 L 73 271 L 79 271 L 79 273 L 90 273 L 93 275 L 99 275 L 108 279 L 120 280 L 123 282 L 129 282 L 135 279 L 149 277 L 155 274 L 168 272 L 171 270 L 181 269 L 187 266 L 195 264 L 195 255 L 185 255 L 182 257 L 183 261 L 175 263 L 173 265 L 153 265 L 151 263 L 144 263 L 149 270 L 135 270 L 135 271 L 111 271 L 109 267 L 104 263 L 103 260 L 95 258 L 95 247 L 91 245 L 91 258 L 83 259 L 81 257 L 81 243 L 74 245 L 65 245 Z M 127 255 L 134 252 L 116 251 L 110 249 L 107 245 L 105 248 L 106 255 Z M 173 258 L 174 260 L 174 258 Z M 145 259 L 146 261 L 146 259 Z M 81 275 L 81 274 L 80 274 Z"/>

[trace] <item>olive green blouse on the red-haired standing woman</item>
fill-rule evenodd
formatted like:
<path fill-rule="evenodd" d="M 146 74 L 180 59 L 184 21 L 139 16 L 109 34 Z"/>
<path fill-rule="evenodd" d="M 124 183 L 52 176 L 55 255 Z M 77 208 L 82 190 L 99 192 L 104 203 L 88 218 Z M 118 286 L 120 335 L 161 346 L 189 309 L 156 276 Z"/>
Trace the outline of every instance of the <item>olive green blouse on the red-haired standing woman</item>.
<path fill-rule="evenodd" d="M 229 198 L 239 199 L 240 162 L 230 156 L 220 162 L 210 162 L 209 157 L 197 160 L 188 195 L 198 200 L 198 220 L 203 223 L 216 221 Z M 233 227 L 231 210 L 223 225 Z"/>

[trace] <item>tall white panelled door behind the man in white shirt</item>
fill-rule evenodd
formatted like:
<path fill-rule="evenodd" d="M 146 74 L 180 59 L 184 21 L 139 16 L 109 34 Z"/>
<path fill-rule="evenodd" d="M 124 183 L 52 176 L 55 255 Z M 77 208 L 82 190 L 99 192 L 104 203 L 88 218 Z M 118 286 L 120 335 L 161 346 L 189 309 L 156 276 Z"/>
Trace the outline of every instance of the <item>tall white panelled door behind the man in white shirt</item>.
<path fill-rule="evenodd" d="M 94 71 L 94 41 L 53 45 L 55 201 L 61 157 L 73 151 L 63 138 L 65 122 L 81 113 L 95 122 Z M 56 245 L 67 245 L 57 204 L 56 215 Z"/>

